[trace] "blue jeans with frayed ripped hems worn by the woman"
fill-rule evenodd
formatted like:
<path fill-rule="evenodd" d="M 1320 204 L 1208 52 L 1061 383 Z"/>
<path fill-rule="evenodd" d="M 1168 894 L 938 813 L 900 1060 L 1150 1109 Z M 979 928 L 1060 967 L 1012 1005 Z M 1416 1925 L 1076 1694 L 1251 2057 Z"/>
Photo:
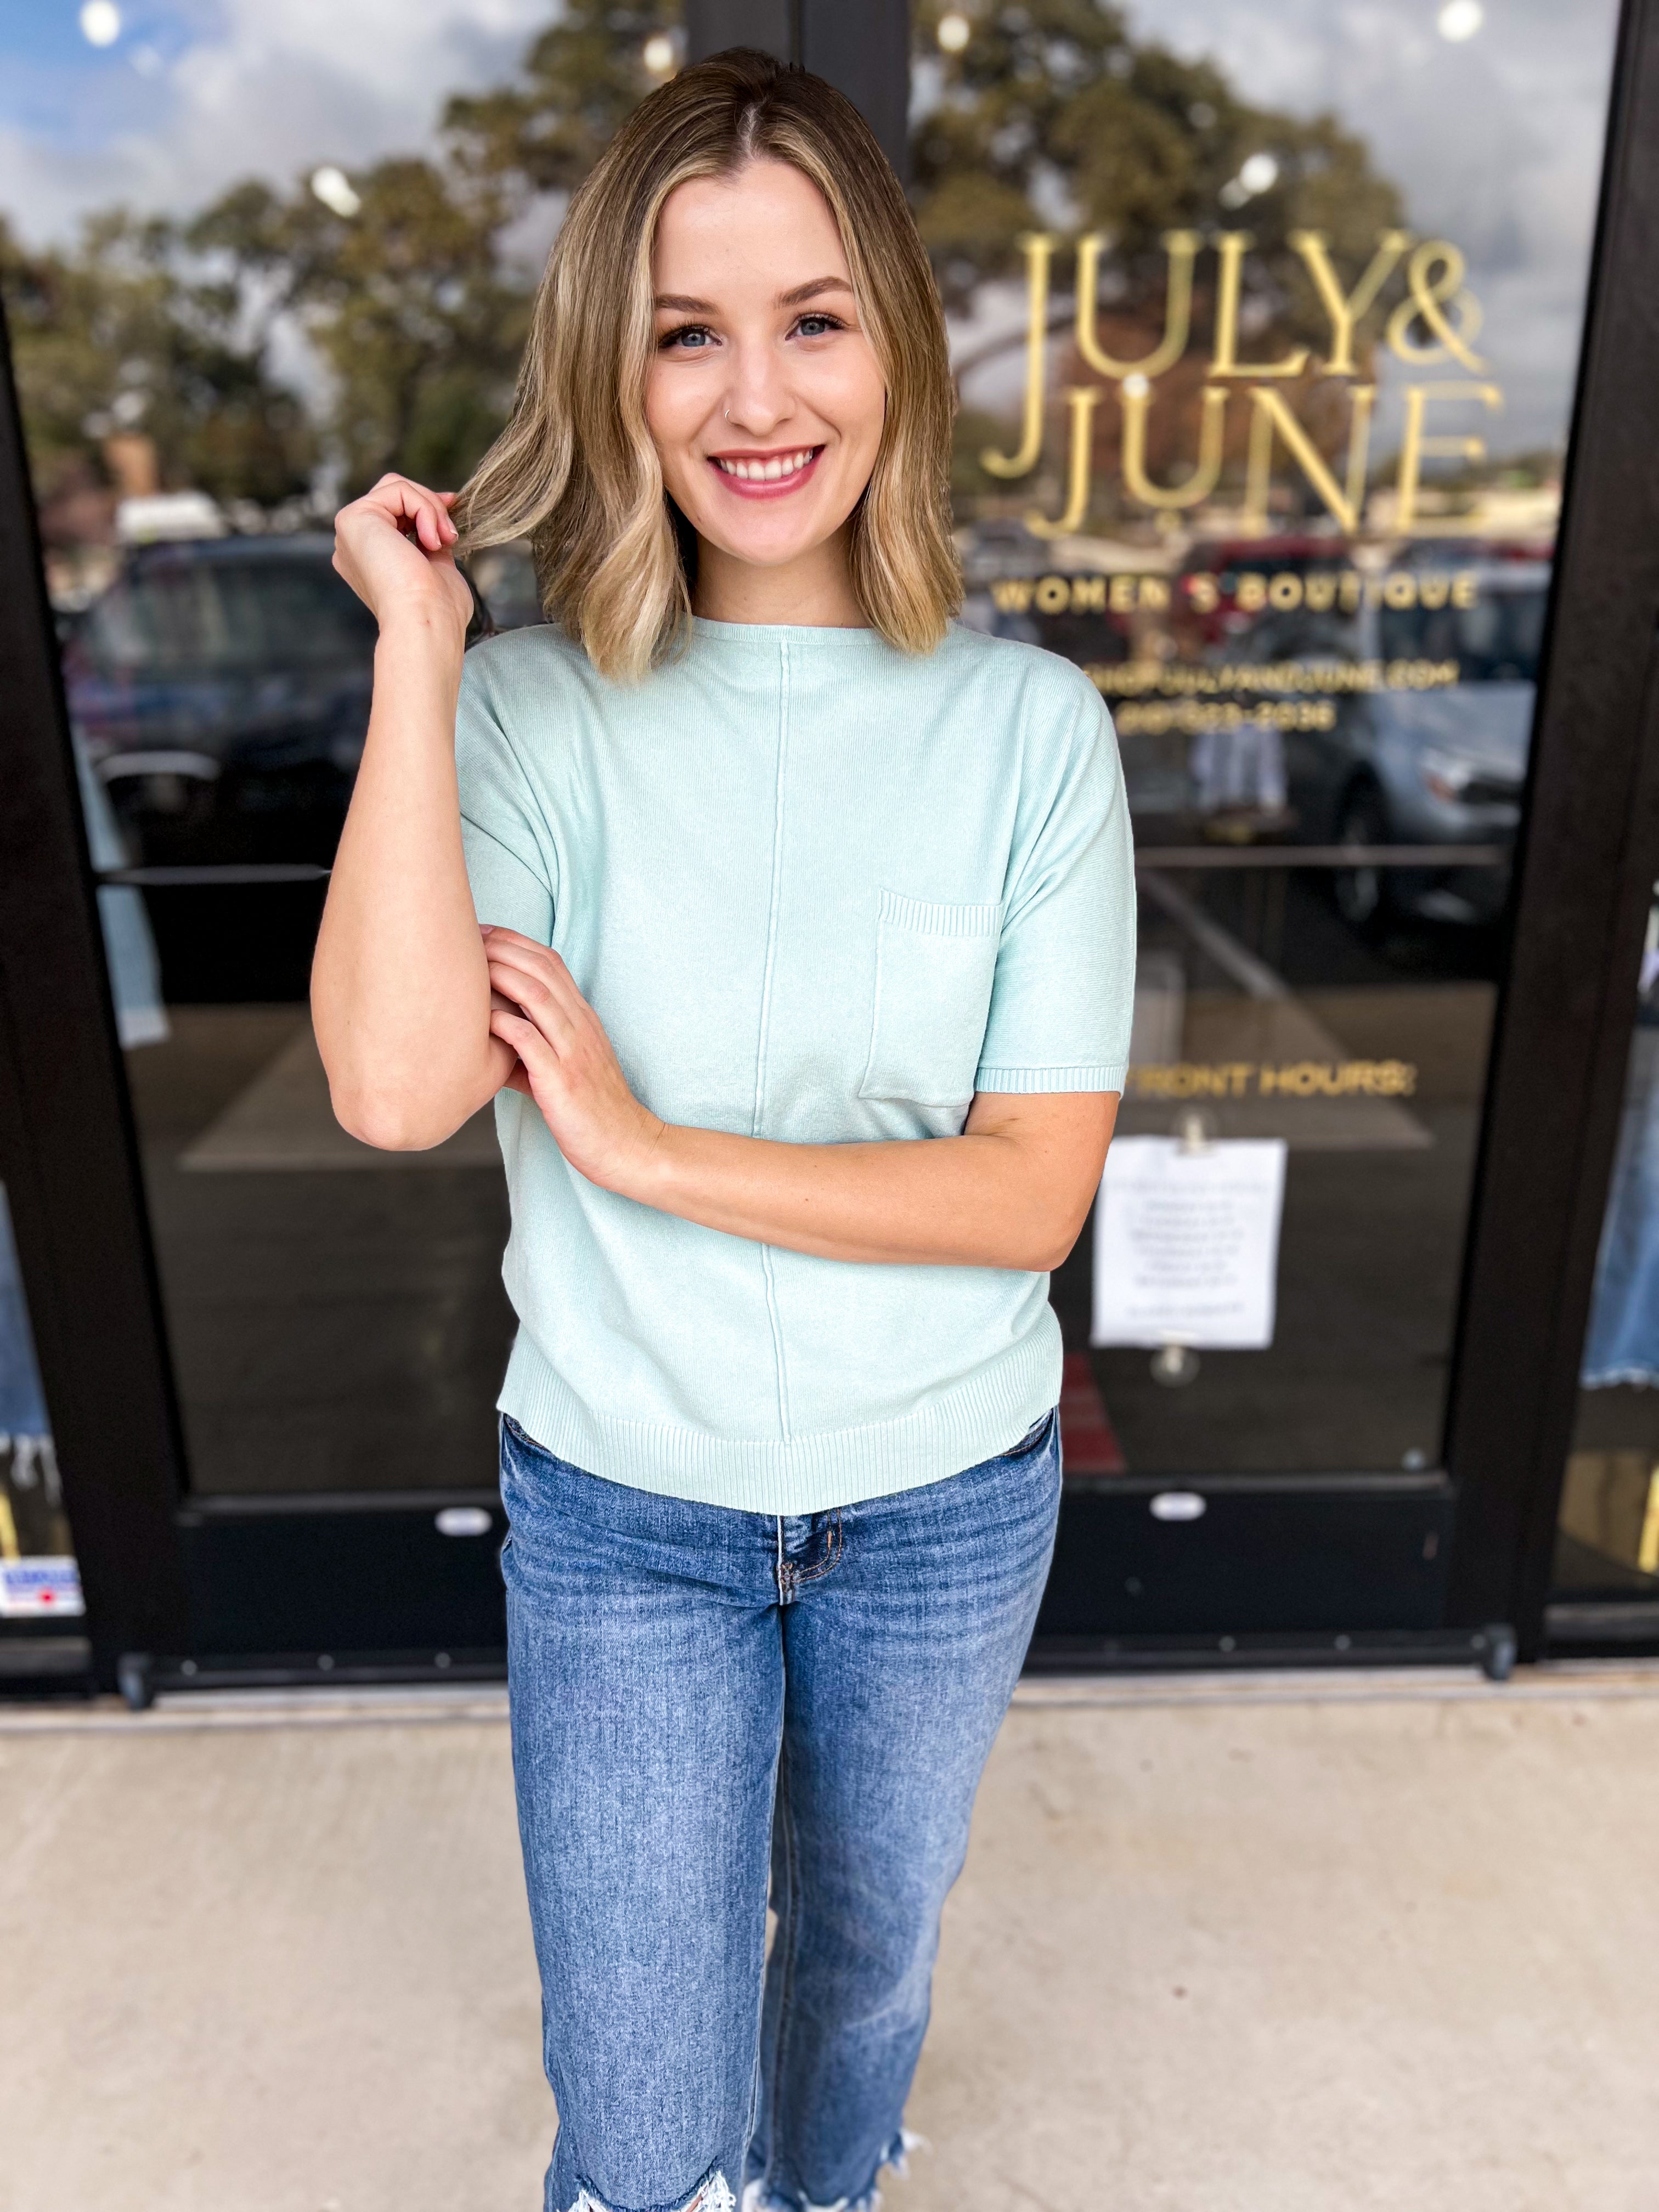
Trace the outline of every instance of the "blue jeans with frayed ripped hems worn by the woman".
<path fill-rule="evenodd" d="M 602 1482 L 507 1420 L 502 1498 L 546 2212 L 867 2205 L 1048 1575 L 1057 1420 L 799 1517 Z"/>

